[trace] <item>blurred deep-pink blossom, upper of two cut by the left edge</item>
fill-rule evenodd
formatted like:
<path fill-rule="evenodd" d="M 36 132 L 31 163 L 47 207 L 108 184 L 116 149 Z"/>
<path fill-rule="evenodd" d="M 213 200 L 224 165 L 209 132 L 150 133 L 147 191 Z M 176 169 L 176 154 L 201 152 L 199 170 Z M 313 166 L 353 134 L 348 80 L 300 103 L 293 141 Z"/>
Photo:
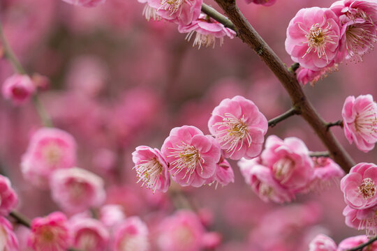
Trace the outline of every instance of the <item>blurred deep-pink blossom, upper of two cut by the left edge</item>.
<path fill-rule="evenodd" d="M 17 202 L 18 197 L 10 185 L 9 178 L 0 175 L 0 215 L 8 215 L 17 206 Z"/>

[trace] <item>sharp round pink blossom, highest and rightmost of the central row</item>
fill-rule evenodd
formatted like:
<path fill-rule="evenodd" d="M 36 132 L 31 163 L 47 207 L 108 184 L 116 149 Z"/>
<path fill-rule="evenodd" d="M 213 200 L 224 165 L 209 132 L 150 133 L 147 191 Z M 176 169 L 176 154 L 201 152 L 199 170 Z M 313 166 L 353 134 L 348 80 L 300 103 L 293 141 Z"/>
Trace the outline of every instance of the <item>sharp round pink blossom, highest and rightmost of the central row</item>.
<path fill-rule="evenodd" d="M 268 122 L 251 100 L 235 96 L 214 108 L 208 128 L 221 145 L 225 158 L 251 159 L 262 151 Z"/>

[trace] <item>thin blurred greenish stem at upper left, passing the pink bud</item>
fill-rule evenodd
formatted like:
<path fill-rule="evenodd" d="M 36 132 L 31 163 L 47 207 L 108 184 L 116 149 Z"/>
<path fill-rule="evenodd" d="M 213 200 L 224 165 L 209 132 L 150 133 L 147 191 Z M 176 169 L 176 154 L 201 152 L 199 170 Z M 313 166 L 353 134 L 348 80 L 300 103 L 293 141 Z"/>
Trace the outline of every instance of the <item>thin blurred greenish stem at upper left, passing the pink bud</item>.
<path fill-rule="evenodd" d="M 13 52 L 12 48 L 10 48 L 8 41 L 6 40 L 6 37 L 3 33 L 3 26 L 0 22 L 0 41 L 3 46 L 3 51 L 6 56 L 6 58 L 10 61 L 10 64 L 13 66 L 13 69 L 16 73 L 20 74 L 27 74 L 27 71 L 22 67 L 20 61 L 18 61 L 17 57 L 15 56 L 15 53 Z M 33 97 L 33 104 L 36 108 L 36 111 L 38 112 L 38 116 L 40 117 L 40 120 L 42 121 L 44 126 L 52 127 L 52 121 L 50 116 L 48 116 L 47 112 L 45 111 L 45 107 L 40 103 L 40 100 L 37 95 L 34 95 Z"/>

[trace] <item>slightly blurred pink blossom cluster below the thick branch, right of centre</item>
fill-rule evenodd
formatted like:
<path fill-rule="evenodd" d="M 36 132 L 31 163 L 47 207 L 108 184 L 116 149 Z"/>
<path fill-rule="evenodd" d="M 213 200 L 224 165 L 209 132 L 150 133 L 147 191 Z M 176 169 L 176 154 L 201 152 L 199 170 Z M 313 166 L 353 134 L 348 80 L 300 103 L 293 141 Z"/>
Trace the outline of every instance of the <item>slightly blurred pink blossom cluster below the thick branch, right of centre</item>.
<path fill-rule="evenodd" d="M 277 203 L 291 201 L 297 193 L 327 185 L 344 175 L 332 160 L 312 159 L 301 139 L 282 140 L 275 135 L 267 138 L 259 158 L 242 159 L 238 165 L 246 183 L 261 199 Z"/>

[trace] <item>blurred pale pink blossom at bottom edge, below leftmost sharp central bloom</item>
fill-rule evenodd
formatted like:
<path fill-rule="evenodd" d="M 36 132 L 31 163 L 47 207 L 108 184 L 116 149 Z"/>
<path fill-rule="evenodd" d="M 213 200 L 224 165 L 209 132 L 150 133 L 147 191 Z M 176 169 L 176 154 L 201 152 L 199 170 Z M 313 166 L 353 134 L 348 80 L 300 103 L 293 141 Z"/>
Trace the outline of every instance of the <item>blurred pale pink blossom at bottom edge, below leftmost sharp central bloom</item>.
<path fill-rule="evenodd" d="M 147 225 L 137 216 L 126 218 L 114 229 L 114 242 L 111 250 L 149 250 Z"/>

